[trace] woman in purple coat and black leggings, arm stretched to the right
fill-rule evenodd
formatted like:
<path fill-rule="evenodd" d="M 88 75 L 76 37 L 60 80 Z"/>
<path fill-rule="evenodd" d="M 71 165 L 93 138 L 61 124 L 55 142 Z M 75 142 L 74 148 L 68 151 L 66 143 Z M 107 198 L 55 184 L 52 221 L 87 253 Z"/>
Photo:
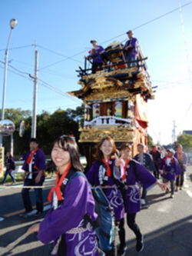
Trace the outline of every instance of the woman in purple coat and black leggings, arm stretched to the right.
<path fill-rule="evenodd" d="M 141 234 L 140 228 L 135 222 L 137 212 L 141 211 L 141 198 L 137 183 L 141 181 L 147 191 L 153 188 L 155 184 L 164 191 L 167 188 L 167 184 L 162 184 L 157 181 L 157 179 L 154 178 L 154 176 L 151 175 L 143 165 L 137 161 L 131 160 L 130 152 L 131 147 L 127 143 L 121 145 L 120 153 L 126 163 L 124 165 L 123 176 L 125 186 L 127 186 L 125 195 L 125 212 L 127 212 L 127 225 L 132 231 L 134 231 L 137 238 L 136 250 L 142 251 L 144 248 L 144 236 Z"/>

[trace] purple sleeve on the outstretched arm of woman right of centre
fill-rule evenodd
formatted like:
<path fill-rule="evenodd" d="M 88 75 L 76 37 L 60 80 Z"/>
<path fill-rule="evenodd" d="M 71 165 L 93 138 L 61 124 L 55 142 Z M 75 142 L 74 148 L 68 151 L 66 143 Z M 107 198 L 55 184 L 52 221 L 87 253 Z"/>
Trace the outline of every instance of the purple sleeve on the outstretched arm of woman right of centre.
<path fill-rule="evenodd" d="M 145 189 L 151 187 L 151 185 L 154 185 L 157 181 L 157 179 L 139 162 L 136 162 L 136 173 L 138 181 L 141 181 Z"/>

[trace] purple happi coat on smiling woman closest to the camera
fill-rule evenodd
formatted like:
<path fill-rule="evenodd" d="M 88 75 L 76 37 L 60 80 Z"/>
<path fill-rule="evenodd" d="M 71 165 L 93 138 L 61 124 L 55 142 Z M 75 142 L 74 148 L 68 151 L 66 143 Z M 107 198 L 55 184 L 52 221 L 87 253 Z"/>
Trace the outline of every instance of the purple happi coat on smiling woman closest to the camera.
<path fill-rule="evenodd" d="M 55 241 L 52 251 L 55 256 L 98 256 L 98 241 L 91 224 L 87 223 L 87 228 L 82 229 L 84 214 L 88 213 L 92 221 L 98 216 L 90 185 L 81 176 L 75 177 L 70 185 L 68 179 L 67 175 L 63 181 L 64 194 L 61 186 L 65 198 L 61 204 L 54 191 L 51 210 L 41 221 L 38 239 L 44 244 Z"/>

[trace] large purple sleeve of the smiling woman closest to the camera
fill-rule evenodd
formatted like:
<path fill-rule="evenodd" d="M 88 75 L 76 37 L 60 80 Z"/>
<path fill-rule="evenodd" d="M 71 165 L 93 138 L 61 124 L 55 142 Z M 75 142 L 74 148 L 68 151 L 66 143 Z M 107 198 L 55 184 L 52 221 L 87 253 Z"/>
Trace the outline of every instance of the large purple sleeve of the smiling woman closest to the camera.
<path fill-rule="evenodd" d="M 74 178 L 65 190 L 65 201 L 55 211 L 49 211 L 41 221 L 38 239 L 48 244 L 65 234 L 71 228 L 78 227 L 84 214 L 88 213 L 92 220 L 97 218 L 94 212 L 94 198 L 88 182 L 81 176 Z"/>

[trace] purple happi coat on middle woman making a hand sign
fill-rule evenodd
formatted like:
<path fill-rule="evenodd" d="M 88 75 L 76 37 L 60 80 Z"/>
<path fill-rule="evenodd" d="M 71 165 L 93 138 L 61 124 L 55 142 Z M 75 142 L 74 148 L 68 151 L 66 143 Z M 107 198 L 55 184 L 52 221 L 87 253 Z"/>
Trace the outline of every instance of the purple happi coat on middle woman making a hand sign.
<path fill-rule="evenodd" d="M 118 168 L 114 166 L 114 161 L 115 160 L 111 160 L 109 162 L 111 171 L 114 172 L 115 178 L 121 178 L 120 171 L 117 171 Z M 120 174 L 119 177 L 117 177 L 117 172 Z M 102 161 L 94 161 L 86 176 L 92 186 L 104 187 L 115 185 L 113 179 L 107 176 L 107 167 Z M 124 201 L 121 191 L 119 191 L 118 188 L 104 188 L 103 191 L 111 207 L 114 208 L 115 219 L 120 221 L 121 218 L 124 218 Z"/>

